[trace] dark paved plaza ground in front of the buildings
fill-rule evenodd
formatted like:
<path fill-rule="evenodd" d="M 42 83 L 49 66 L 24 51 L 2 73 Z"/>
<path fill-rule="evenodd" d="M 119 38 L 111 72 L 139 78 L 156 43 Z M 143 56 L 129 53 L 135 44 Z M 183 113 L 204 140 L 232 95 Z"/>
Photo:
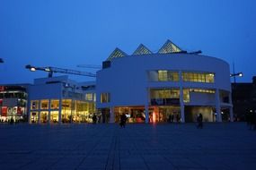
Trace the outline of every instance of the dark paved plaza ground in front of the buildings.
<path fill-rule="evenodd" d="M 255 169 L 245 123 L 0 124 L 0 169 Z"/>

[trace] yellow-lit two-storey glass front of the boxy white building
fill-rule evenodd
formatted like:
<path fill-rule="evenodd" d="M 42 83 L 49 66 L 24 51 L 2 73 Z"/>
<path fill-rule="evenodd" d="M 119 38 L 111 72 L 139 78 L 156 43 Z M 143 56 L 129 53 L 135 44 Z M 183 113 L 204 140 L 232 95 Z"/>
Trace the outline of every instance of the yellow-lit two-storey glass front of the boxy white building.
<path fill-rule="evenodd" d="M 94 93 L 92 93 L 93 95 Z M 49 108 L 50 103 L 50 108 Z M 61 100 L 62 123 L 90 123 L 96 113 L 95 103 L 75 99 Z M 40 107 L 39 107 L 40 104 Z M 31 101 L 31 123 L 58 123 L 59 99 L 42 99 Z"/>

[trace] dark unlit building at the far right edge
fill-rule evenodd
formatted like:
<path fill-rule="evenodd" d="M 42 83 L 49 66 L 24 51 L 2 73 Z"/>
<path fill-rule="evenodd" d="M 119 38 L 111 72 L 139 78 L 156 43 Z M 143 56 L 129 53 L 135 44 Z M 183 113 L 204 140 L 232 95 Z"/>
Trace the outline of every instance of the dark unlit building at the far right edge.
<path fill-rule="evenodd" d="M 232 83 L 234 119 L 245 121 L 246 114 L 256 113 L 256 76 L 252 82 Z"/>

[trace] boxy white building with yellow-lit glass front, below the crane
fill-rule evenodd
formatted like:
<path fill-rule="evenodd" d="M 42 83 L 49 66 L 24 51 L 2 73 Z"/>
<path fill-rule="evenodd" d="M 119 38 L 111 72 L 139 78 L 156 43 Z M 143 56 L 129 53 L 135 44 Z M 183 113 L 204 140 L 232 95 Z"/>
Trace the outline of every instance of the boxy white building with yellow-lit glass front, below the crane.
<path fill-rule="evenodd" d="M 30 87 L 30 123 L 88 123 L 95 110 L 95 82 L 67 76 L 35 79 Z"/>

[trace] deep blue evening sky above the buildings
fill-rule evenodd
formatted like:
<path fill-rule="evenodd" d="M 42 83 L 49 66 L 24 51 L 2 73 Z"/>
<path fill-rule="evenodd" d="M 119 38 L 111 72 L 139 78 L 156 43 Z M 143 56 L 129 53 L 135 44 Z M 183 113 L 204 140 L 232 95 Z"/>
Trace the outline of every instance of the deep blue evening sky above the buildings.
<path fill-rule="evenodd" d="M 254 0 L 0 0 L 0 83 L 47 76 L 26 64 L 95 72 L 76 65 L 100 65 L 115 47 L 132 54 L 143 43 L 157 52 L 168 38 L 231 70 L 234 63 L 244 74 L 237 81 L 252 81 L 255 9 Z"/>

